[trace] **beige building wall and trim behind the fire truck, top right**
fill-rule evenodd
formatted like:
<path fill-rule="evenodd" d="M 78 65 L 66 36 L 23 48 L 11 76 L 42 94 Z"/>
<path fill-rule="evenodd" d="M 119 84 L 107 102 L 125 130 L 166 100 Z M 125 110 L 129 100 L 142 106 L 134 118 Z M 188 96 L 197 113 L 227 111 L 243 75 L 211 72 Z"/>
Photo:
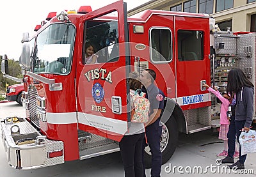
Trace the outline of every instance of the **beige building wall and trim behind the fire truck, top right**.
<path fill-rule="evenodd" d="M 170 7 L 176 6 L 177 4 L 182 3 L 182 12 L 183 12 L 183 3 L 188 0 L 151 0 L 148 3 L 138 6 L 128 12 L 128 15 L 134 15 L 138 12 L 147 9 L 155 10 L 170 10 Z M 196 0 L 196 13 L 198 13 L 198 0 Z M 213 2 L 213 12 L 216 11 L 216 0 Z M 256 13 L 256 2 L 248 3 L 247 0 L 234 0 L 233 8 L 228 10 L 223 10 L 221 12 L 216 12 L 210 14 L 214 17 L 216 23 L 223 22 L 226 20 L 232 19 L 232 31 L 250 31 L 251 27 L 251 15 Z"/>

